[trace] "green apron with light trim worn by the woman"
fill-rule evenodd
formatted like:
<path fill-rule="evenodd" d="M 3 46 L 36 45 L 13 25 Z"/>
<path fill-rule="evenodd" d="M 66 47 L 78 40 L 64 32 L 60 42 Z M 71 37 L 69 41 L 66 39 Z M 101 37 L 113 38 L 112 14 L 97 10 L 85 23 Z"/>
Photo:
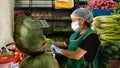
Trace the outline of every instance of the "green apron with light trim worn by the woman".
<path fill-rule="evenodd" d="M 69 51 L 75 51 L 79 46 L 80 43 L 91 33 L 94 33 L 92 29 L 88 29 L 83 35 L 81 35 L 78 39 L 74 40 L 75 37 L 79 34 L 79 32 L 75 32 L 70 37 L 70 44 L 68 47 Z M 84 58 L 81 58 L 79 60 L 70 59 L 68 58 L 68 62 L 65 66 L 65 68 L 98 68 L 98 58 L 95 58 L 95 64 L 94 62 L 88 63 L 84 60 Z M 86 67 L 87 66 L 87 67 Z"/>

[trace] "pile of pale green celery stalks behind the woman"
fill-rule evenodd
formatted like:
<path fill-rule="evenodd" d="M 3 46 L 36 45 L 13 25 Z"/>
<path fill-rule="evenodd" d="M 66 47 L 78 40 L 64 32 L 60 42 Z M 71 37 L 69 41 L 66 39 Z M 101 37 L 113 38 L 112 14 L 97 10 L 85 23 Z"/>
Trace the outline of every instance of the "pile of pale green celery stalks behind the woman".
<path fill-rule="evenodd" d="M 102 42 L 101 45 L 105 44 L 106 46 L 107 42 L 120 40 L 120 14 L 95 17 L 93 24 L 100 39 L 106 41 Z"/>

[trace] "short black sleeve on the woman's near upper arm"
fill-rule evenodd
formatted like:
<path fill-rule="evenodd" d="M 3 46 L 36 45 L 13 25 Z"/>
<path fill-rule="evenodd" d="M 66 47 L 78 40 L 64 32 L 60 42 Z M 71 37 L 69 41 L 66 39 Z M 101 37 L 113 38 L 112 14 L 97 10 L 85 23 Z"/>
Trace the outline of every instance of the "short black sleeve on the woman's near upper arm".
<path fill-rule="evenodd" d="M 92 51 L 92 50 L 96 51 L 99 46 L 100 46 L 100 40 L 98 38 L 98 35 L 95 33 L 91 33 L 88 37 L 86 37 L 82 41 L 79 47 L 86 51 Z"/>

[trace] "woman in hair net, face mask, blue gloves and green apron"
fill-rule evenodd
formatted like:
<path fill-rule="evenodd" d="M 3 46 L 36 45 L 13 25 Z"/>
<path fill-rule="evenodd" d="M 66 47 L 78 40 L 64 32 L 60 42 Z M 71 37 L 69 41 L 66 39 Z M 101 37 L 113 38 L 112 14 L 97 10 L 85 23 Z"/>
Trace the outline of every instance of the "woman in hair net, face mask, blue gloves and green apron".
<path fill-rule="evenodd" d="M 71 14 L 71 27 L 75 31 L 66 42 L 54 42 L 56 53 L 68 57 L 66 68 L 98 68 L 97 52 L 100 46 L 98 35 L 90 28 L 93 22 L 89 10 L 78 8 Z M 67 50 L 63 49 L 68 47 Z M 95 63 L 94 63 L 95 62 Z"/>

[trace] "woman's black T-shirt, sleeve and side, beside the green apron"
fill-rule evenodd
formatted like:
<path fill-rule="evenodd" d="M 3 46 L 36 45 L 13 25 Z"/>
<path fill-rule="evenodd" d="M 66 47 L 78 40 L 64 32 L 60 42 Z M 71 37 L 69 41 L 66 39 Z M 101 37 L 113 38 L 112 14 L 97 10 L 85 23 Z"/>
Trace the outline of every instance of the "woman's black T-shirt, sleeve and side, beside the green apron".
<path fill-rule="evenodd" d="M 87 54 L 84 56 L 85 61 L 92 62 L 98 52 L 99 47 L 100 40 L 97 34 L 92 33 L 86 37 L 80 46 L 80 48 L 87 51 Z"/>

